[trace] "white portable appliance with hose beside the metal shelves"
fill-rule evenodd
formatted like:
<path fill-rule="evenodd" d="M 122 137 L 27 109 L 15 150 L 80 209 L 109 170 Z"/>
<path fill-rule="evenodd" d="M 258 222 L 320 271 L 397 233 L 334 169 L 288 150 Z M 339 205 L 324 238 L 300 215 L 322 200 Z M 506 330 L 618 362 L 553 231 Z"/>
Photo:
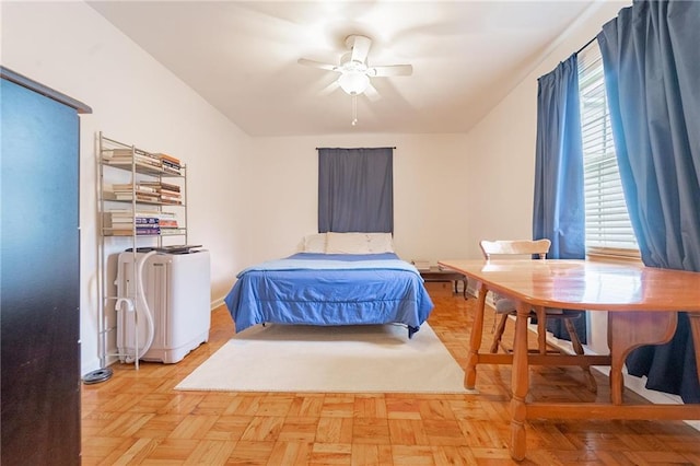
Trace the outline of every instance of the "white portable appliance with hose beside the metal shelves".
<path fill-rule="evenodd" d="M 117 350 L 121 362 L 140 360 L 175 363 L 209 339 L 211 327 L 210 266 L 208 251 L 188 254 L 125 252 L 117 265 Z M 149 318 L 137 291 L 138 264 L 143 296 L 152 316 L 153 340 L 149 340 Z M 136 264 L 135 264 L 136 258 Z M 126 299 L 126 300 L 124 300 Z M 138 331 L 137 331 L 138 328 Z M 145 352 L 143 352 L 145 350 Z M 142 353 L 142 354 L 141 354 Z"/>

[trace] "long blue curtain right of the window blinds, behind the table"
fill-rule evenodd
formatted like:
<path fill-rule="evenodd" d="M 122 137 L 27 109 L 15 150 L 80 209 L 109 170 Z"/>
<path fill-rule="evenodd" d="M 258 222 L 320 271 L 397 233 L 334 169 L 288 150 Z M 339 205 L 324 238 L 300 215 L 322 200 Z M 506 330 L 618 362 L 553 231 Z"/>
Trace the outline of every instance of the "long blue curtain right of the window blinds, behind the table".
<path fill-rule="evenodd" d="M 625 198 L 646 266 L 700 271 L 700 2 L 634 1 L 598 34 Z M 688 316 L 627 360 L 700 403 Z"/>

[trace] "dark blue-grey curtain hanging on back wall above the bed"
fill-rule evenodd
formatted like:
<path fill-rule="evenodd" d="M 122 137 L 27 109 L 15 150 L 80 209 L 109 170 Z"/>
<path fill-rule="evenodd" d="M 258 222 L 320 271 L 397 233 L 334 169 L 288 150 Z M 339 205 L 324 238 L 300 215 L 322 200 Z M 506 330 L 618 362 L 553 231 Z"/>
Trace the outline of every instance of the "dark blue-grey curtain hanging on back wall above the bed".
<path fill-rule="evenodd" d="M 394 232 L 393 148 L 318 149 L 318 232 Z"/>

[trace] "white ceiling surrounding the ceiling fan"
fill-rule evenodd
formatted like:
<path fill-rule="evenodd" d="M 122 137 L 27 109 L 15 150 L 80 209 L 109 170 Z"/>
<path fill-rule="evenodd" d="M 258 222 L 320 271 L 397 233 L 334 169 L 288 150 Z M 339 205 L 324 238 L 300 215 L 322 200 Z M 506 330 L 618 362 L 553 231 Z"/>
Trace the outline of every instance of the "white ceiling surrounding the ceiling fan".
<path fill-rule="evenodd" d="M 250 136 L 467 131 L 595 1 L 94 1 L 90 4 Z M 381 98 L 323 95 L 345 38 L 372 38 Z M 533 96 L 535 98 L 535 96 Z"/>

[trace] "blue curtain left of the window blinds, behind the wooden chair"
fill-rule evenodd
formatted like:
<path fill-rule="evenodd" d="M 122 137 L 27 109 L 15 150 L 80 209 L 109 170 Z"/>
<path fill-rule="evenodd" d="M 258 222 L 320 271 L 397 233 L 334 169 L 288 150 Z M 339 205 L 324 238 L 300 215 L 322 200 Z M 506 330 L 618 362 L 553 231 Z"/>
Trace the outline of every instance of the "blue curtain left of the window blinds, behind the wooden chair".
<path fill-rule="evenodd" d="M 548 257 L 585 258 L 583 148 L 579 105 L 579 69 L 574 54 L 539 78 L 533 238 L 551 241 Z M 586 341 L 586 323 L 574 321 Z M 569 338 L 560 319 L 547 323 L 558 338 Z"/>

